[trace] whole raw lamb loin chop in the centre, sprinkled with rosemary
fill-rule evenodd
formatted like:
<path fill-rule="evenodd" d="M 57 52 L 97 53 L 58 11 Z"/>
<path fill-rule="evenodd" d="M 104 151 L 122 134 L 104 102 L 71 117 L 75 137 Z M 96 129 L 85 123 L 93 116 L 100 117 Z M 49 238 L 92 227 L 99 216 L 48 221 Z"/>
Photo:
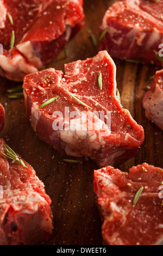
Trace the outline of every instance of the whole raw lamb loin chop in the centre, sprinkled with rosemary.
<path fill-rule="evenodd" d="M 116 66 L 106 51 L 66 64 L 65 75 L 52 68 L 27 75 L 23 89 L 34 131 L 61 154 L 103 167 L 130 159 L 143 143 L 142 126 L 117 99 Z"/>

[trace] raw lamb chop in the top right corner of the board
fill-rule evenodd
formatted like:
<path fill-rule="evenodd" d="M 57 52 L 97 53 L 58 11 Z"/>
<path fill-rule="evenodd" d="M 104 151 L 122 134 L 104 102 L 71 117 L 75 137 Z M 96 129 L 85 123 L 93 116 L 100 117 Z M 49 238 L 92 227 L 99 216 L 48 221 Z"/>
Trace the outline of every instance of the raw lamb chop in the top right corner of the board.
<path fill-rule="evenodd" d="M 107 50 L 111 57 L 162 65 L 156 54 L 163 41 L 162 8 L 162 0 L 122 0 L 112 4 L 99 29 L 100 34 L 108 29 L 99 50 Z"/>

